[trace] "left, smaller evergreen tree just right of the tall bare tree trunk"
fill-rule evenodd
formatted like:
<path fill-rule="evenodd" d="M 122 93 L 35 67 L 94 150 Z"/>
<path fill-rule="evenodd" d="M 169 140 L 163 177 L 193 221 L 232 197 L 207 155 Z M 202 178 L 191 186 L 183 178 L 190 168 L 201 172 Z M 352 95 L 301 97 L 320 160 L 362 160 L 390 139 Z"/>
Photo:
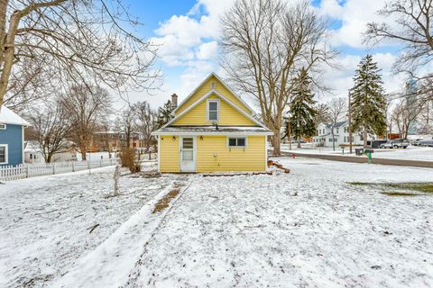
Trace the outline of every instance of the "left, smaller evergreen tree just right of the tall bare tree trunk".
<path fill-rule="evenodd" d="M 311 77 L 307 70 L 302 68 L 294 81 L 296 86 L 291 94 L 289 121 L 291 134 L 298 139 L 300 148 L 302 136 L 311 137 L 316 133 L 315 118 L 318 111 L 311 91 Z"/>

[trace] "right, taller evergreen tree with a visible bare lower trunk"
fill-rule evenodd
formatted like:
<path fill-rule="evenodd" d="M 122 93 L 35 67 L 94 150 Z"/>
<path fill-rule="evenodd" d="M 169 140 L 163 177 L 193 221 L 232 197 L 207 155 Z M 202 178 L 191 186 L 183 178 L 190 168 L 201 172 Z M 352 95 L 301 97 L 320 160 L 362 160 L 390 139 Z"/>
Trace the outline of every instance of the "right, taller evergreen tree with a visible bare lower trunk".
<path fill-rule="evenodd" d="M 366 55 L 355 71 L 352 94 L 352 128 L 364 134 L 364 148 L 368 133 L 383 134 L 386 130 L 386 99 L 382 87 L 381 69 Z"/>

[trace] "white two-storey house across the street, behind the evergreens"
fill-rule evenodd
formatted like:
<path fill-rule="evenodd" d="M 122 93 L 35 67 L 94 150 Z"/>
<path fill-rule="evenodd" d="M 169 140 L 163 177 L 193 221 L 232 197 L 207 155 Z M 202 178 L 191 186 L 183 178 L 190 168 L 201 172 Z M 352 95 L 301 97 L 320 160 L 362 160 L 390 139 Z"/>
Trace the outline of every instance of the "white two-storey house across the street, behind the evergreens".
<path fill-rule="evenodd" d="M 337 121 L 334 123 L 318 124 L 317 135 L 313 137 L 313 145 L 321 147 L 333 147 L 332 130 L 334 129 L 334 141 L 336 147 L 342 144 L 349 144 L 349 121 Z M 352 133 L 352 144 L 363 145 L 364 138 L 361 133 Z M 376 135 L 368 135 L 368 139 L 377 139 Z"/>

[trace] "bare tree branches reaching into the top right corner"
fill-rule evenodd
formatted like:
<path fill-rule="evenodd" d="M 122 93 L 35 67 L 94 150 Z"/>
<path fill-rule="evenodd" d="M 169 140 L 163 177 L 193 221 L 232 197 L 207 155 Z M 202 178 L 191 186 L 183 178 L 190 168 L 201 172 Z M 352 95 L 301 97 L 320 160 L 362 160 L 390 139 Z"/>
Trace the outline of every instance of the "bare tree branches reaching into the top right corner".
<path fill-rule="evenodd" d="M 387 23 L 368 23 L 365 41 L 393 40 L 404 47 L 395 62 L 396 72 L 409 72 L 412 76 L 433 60 L 433 0 L 392 0 L 379 14 Z M 394 19 L 394 23 L 389 23 Z M 432 75 L 420 76 L 431 78 Z M 431 85 L 420 85 L 421 90 L 432 91 Z"/>

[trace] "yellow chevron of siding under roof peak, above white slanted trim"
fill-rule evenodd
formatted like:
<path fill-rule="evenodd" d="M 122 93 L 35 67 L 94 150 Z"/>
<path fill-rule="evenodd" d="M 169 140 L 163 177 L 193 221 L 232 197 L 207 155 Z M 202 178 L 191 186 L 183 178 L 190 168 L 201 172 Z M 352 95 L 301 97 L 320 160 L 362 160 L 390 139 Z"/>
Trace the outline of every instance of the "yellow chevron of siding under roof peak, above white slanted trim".
<path fill-rule="evenodd" d="M 230 93 L 230 91 L 228 91 L 226 89 L 226 87 L 223 84 L 221 84 L 221 82 L 219 82 L 215 76 L 211 76 L 205 84 L 201 85 L 198 88 L 198 90 L 195 94 L 191 95 L 191 97 L 189 98 L 189 100 L 186 103 L 183 103 L 178 108 L 178 111 L 176 111 L 176 115 L 179 115 L 180 112 L 183 112 L 191 104 L 196 103 L 198 101 L 198 99 L 203 97 L 205 94 L 209 93 L 209 91 L 211 90 L 210 84 L 212 82 L 215 83 L 214 90 L 216 90 L 219 94 L 224 95 L 231 102 L 235 103 L 235 105 L 238 106 L 240 109 L 242 109 L 244 112 L 246 112 L 250 115 L 252 114 L 252 112 L 249 111 L 249 109 L 241 101 L 239 101 L 239 99 L 234 94 Z"/>

